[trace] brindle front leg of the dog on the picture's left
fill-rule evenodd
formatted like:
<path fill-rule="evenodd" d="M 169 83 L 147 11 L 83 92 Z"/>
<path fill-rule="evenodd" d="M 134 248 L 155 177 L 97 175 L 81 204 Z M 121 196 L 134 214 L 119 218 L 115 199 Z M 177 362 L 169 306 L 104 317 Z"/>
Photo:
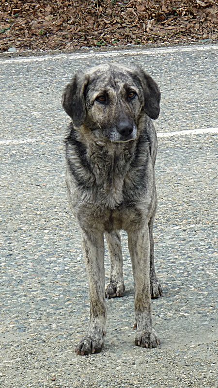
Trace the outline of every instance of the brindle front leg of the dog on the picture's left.
<path fill-rule="evenodd" d="M 82 251 L 86 262 L 90 292 L 90 323 L 87 335 L 76 347 L 77 355 L 99 353 L 106 334 L 104 239 L 101 232 L 82 232 Z"/>

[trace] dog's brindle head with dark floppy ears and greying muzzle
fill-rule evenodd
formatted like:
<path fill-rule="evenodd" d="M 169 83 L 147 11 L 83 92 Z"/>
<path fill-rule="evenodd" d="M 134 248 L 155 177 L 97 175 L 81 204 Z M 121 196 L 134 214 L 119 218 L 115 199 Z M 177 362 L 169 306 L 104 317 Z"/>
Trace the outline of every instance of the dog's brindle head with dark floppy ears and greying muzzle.
<path fill-rule="evenodd" d="M 136 139 L 140 117 L 156 119 L 159 103 L 159 88 L 146 72 L 115 64 L 78 71 L 62 96 L 76 129 L 85 126 L 96 138 L 119 143 Z"/>

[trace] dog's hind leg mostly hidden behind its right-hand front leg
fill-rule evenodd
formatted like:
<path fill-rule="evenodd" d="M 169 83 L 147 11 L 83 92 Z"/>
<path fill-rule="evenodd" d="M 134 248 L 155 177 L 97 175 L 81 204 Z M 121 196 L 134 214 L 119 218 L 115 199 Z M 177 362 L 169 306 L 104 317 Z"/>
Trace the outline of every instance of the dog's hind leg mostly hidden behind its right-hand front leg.
<path fill-rule="evenodd" d="M 148 227 L 149 227 L 149 239 L 150 239 L 150 291 L 151 298 L 159 298 L 163 295 L 162 287 L 157 280 L 155 272 L 155 262 L 154 262 L 154 239 L 153 239 L 153 223 L 154 215 L 152 215 Z"/>

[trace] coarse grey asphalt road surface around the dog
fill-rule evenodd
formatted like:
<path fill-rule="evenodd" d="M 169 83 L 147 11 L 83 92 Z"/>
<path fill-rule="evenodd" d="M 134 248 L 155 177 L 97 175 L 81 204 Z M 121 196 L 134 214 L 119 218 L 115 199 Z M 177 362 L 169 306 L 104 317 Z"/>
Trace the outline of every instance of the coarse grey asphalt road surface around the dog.
<path fill-rule="evenodd" d="M 64 184 L 69 120 L 60 102 L 78 68 L 137 63 L 160 85 L 157 133 L 217 128 L 217 54 L 214 45 L 0 59 L 1 388 L 218 387 L 217 134 L 158 139 L 154 238 L 164 297 L 152 306 L 161 346 L 134 346 L 123 233 L 125 296 L 107 301 L 103 352 L 80 357 L 74 348 L 88 327 L 89 296 Z M 107 281 L 107 252 L 105 266 Z"/>

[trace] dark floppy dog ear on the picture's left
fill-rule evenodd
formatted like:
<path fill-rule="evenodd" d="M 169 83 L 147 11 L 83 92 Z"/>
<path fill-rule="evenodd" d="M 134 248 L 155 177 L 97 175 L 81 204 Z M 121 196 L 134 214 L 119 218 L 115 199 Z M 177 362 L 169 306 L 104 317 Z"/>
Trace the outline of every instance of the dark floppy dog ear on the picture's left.
<path fill-rule="evenodd" d="M 80 127 L 86 117 L 85 88 L 89 83 L 88 74 L 78 71 L 62 95 L 62 107 L 72 118 L 75 127 Z"/>

